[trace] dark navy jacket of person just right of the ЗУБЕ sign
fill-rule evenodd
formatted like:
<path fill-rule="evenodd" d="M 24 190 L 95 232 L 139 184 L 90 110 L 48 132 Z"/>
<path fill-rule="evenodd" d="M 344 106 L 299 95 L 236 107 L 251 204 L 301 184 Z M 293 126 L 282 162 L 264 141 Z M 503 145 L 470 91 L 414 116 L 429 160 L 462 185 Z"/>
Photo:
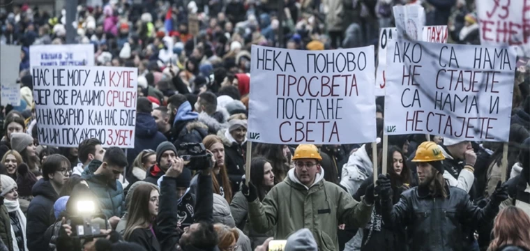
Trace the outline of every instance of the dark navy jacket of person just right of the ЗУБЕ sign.
<path fill-rule="evenodd" d="M 148 113 L 138 112 L 136 114 L 135 148 L 128 149 L 127 162 L 134 162 L 136 156 L 146 149 L 156 151 L 156 147 L 165 141 L 167 141 L 167 138 L 162 132 L 158 132 L 153 116 Z"/>

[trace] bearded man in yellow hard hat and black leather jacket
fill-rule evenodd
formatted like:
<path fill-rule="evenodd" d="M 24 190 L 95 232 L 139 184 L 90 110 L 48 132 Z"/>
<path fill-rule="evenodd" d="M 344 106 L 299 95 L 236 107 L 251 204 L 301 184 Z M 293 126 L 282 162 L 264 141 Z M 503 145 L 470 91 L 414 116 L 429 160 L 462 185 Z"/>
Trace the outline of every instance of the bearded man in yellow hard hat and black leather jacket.
<path fill-rule="evenodd" d="M 474 206 L 465 190 L 448 185 L 444 179 L 444 154 L 434 142 L 423 142 L 412 160 L 418 167 L 419 185 L 402 193 L 392 206 L 392 188 L 388 176 L 380 174 L 375 190 L 381 198 L 385 224 L 407 227 L 411 251 L 463 250 L 462 227 L 478 229 L 490 224 L 499 213 L 499 205 L 508 198 L 506 184 L 497 183 L 484 208 Z"/>

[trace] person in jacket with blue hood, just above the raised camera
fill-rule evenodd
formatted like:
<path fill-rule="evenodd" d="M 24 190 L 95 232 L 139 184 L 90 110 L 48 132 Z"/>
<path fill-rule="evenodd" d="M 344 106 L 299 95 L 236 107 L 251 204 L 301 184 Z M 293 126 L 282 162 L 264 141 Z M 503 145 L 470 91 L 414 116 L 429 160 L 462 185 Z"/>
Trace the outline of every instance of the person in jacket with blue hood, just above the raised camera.
<path fill-rule="evenodd" d="M 169 139 L 180 149 L 182 143 L 200 143 L 208 135 L 208 127 L 197 121 L 199 114 L 192 112 L 188 99 L 182 94 L 175 94 L 167 100 L 167 109 L 173 124 L 173 139 Z"/>

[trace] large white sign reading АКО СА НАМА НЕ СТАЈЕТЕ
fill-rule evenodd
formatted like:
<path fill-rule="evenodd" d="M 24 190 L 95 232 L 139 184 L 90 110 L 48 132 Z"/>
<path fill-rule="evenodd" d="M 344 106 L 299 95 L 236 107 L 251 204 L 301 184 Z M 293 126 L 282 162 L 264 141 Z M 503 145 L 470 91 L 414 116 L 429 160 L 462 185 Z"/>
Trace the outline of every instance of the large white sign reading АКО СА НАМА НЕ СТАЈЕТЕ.
<path fill-rule="evenodd" d="M 386 134 L 508 142 L 513 48 L 399 40 L 387 63 Z"/>

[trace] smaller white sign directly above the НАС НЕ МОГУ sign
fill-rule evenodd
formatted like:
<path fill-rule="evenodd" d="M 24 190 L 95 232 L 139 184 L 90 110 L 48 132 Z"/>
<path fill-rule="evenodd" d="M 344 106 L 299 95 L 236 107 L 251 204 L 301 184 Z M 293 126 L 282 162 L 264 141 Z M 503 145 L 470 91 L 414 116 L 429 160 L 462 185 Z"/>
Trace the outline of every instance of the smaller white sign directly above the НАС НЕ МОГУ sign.
<path fill-rule="evenodd" d="M 31 45 L 30 69 L 36 66 L 93 66 L 94 45 Z"/>

